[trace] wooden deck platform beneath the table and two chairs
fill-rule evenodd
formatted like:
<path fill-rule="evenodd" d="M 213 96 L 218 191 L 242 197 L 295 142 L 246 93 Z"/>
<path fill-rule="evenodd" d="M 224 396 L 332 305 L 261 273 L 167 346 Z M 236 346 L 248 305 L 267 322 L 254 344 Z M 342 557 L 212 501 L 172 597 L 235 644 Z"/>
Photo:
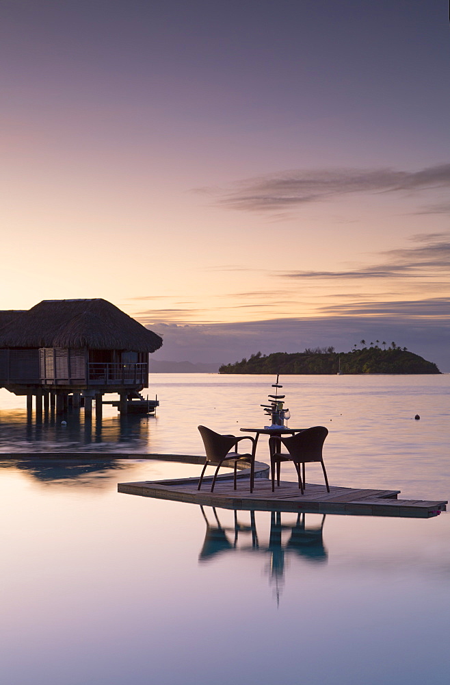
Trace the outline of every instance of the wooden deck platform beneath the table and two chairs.
<path fill-rule="evenodd" d="M 233 481 L 229 475 L 217 479 L 213 493 L 210 492 L 211 477 L 204 479 L 200 491 L 197 490 L 198 478 L 182 478 L 119 483 L 118 492 L 248 511 L 407 516 L 427 519 L 446 510 L 447 501 L 397 499 L 400 490 L 361 490 L 330 486 L 328 493 L 324 485 L 307 484 L 304 495 L 301 495 L 297 483 L 282 481 L 280 487 L 276 486 L 275 492 L 272 493 L 272 483 L 267 478 L 267 464 L 257 464 L 256 473 L 259 477 L 255 479 L 252 494 L 247 478 L 241 477 L 237 483 L 237 490 L 233 490 Z"/>

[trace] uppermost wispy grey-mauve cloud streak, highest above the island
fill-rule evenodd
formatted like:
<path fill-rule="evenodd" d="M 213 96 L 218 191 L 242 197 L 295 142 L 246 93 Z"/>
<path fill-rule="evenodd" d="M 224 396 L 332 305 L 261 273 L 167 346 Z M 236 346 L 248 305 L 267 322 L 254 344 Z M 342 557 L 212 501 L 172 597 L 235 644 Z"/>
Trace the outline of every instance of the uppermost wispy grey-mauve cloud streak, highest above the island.
<path fill-rule="evenodd" d="M 354 192 L 417 192 L 450 186 L 450 164 L 420 171 L 395 169 L 318 169 L 283 171 L 243 179 L 212 194 L 217 203 L 238 210 L 280 211 Z"/>

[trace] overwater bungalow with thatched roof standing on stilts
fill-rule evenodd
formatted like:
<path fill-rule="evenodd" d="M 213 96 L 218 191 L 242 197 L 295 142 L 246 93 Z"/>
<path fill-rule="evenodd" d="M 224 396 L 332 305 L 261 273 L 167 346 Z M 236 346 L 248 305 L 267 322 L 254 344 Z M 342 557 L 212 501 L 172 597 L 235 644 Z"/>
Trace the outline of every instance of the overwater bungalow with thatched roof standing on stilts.
<path fill-rule="evenodd" d="M 162 339 L 104 299 L 44 300 L 27 311 L 0 312 L 0 386 L 36 395 L 36 407 L 62 410 L 73 395 L 85 409 L 103 393 L 127 397 L 148 387 L 148 353 Z M 42 405 L 41 405 L 42 406 Z"/>

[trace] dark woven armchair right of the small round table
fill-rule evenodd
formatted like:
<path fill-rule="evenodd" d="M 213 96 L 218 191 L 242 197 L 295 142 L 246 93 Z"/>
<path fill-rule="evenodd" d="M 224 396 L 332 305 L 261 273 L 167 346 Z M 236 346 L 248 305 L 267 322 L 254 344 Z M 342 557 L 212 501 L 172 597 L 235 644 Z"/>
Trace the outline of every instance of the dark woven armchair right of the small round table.
<path fill-rule="evenodd" d="M 306 430 L 297 433 L 289 438 L 281 438 L 272 436 L 269 440 L 270 447 L 270 466 L 272 472 L 272 493 L 275 490 L 275 464 L 276 464 L 276 480 L 280 485 L 280 464 L 281 462 L 292 461 L 297 471 L 298 486 L 303 495 L 303 488 L 305 482 L 305 463 L 306 462 L 320 462 L 325 476 L 325 484 L 327 492 L 330 492 L 328 485 L 328 478 L 323 464 L 322 447 L 328 429 L 324 426 L 314 426 L 313 428 L 306 428 Z M 280 451 L 280 443 L 286 447 L 288 453 Z M 300 464 L 303 466 L 303 482 L 300 475 Z"/>

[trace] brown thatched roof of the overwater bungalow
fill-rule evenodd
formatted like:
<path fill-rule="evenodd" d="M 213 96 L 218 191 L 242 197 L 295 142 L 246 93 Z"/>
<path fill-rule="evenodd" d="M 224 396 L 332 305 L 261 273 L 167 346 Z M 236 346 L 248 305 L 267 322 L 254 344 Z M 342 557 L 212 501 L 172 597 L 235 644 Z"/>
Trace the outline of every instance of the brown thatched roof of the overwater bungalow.
<path fill-rule="evenodd" d="M 89 347 L 154 352 L 163 344 L 160 336 L 104 299 L 44 300 L 28 311 L 13 313 L 16 316 L 0 327 L 0 348 Z"/>

